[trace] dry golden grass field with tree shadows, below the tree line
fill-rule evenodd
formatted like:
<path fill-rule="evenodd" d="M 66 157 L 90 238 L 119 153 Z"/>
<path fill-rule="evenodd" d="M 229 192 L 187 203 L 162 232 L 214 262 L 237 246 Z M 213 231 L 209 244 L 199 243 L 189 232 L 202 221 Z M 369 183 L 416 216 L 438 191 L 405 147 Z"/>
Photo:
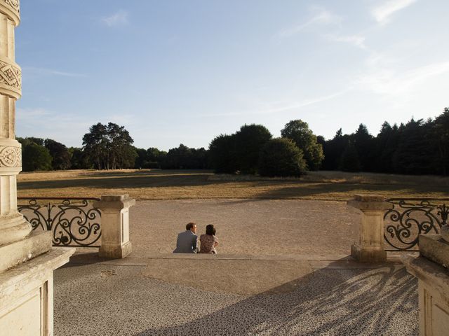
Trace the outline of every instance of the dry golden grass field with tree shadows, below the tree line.
<path fill-rule="evenodd" d="M 449 178 L 390 174 L 310 172 L 300 179 L 217 175 L 204 170 L 115 170 L 21 173 L 20 197 L 99 197 L 129 194 L 136 200 L 213 198 L 349 200 L 354 194 L 448 197 Z"/>

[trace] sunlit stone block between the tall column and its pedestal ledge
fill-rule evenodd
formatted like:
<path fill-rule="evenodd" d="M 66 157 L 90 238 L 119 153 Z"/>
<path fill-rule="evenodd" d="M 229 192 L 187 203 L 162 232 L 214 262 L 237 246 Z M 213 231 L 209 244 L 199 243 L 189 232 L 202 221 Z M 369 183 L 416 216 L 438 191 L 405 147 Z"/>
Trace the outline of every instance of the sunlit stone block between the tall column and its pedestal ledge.
<path fill-rule="evenodd" d="M 0 272 L 51 250 L 51 231 L 33 231 L 28 237 L 0 246 Z"/>

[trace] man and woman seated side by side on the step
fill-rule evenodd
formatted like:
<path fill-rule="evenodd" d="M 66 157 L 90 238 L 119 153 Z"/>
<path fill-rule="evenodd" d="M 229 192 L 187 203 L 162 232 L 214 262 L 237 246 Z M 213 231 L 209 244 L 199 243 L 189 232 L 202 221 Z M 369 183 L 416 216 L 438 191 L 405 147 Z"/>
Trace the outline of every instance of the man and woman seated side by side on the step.
<path fill-rule="evenodd" d="M 196 224 L 185 225 L 185 231 L 177 235 L 176 248 L 173 253 L 217 253 L 218 245 L 215 237 L 215 228 L 212 224 L 206 226 L 206 235 L 199 237 L 200 249 L 198 251 L 198 237 L 196 236 Z"/>

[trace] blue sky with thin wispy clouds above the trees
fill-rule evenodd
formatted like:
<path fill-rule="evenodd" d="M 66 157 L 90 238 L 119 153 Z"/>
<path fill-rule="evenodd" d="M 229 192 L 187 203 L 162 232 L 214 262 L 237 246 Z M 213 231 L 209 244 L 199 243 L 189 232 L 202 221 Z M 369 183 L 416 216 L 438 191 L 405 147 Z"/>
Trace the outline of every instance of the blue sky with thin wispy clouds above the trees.
<path fill-rule="evenodd" d="M 18 137 L 208 147 L 301 119 L 332 139 L 449 106 L 447 0 L 21 0 Z"/>

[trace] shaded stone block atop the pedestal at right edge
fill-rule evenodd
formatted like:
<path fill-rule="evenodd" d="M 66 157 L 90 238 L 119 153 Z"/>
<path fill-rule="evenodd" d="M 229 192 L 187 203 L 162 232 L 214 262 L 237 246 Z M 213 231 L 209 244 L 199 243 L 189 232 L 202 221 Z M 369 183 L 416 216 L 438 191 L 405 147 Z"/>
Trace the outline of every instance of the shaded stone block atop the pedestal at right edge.
<path fill-rule="evenodd" d="M 449 244 L 441 235 L 420 235 L 420 255 L 449 268 Z"/>

